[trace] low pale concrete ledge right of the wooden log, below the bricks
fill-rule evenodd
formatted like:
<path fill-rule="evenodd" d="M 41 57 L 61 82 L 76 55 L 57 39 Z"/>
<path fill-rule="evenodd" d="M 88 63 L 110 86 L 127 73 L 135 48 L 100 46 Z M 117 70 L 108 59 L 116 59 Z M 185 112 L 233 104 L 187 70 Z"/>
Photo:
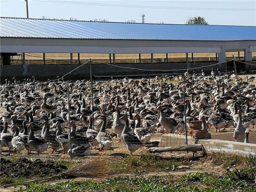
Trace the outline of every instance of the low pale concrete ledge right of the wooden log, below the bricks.
<path fill-rule="evenodd" d="M 229 155 L 249 156 L 249 154 L 256 155 L 256 144 L 253 143 L 239 143 L 226 140 L 193 140 L 189 143 L 202 144 L 207 152 L 224 153 Z"/>

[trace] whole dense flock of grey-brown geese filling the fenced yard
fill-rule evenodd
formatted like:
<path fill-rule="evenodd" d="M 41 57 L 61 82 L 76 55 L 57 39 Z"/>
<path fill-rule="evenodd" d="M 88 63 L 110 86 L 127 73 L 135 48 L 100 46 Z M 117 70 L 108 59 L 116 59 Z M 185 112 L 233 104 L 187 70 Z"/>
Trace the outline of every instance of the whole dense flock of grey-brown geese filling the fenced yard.
<path fill-rule="evenodd" d="M 126 145 L 131 155 L 151 145 L 153 135 L 184 134 L 185 123 L 188 128 L 195 120 L 202 120 L 202 129 L 216 132 L 234 126 L 234 140 L 249 143 L 249 127 L 256 125 L 256 87 L 249 81 L 255 77 L 236 79 L 219 73 L 212 70 L 211 76 L 205 76 L 202 70 L 140 80 L 93 81 L 93 101 L 87 80 L 70 81 L 68 88 L 65 81 L 35 81 L 34 76 L 23 82 L 6 79 L 0 85 L 1 107 L 5 108 L 0 119 L 0 153 L 7 147 L 9 153 L 26 150 L 39 155 L 51 148 L 52 153 L 63 149 L 64 154 L 86 156 L 99 145 L 105 154 L 113 146 L 115 136 L 108 131 L 112 128 L 118 143 Z M 211 138 L 208 131 L 205 139 Z"/>

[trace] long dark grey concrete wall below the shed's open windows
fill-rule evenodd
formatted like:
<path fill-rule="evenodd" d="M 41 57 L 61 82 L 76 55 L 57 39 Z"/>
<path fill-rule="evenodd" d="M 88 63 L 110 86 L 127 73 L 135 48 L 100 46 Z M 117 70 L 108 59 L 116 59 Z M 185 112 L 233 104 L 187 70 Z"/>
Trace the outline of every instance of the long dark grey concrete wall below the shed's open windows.
<path fill-rule="evenodd" d="M 116 64 L 121 67 L 139 68 L 145 70 L 163 70 L 163 71 L 142 71 L 136 69 L 119 68 L 107 64 L 92 64 L 93 75 L 95 76 L 127 76 L 127 75 L 141 75 L 143 74 L 161 74 L 161 73 L 184 73 L 187 68 L 203 67 L 216 64 L 216 62 L 198 62 L 198 63 L 154 63 L 154 64 Z M 224 64 L 213 67 L 224 67 Z M 55 79 L 56 76 L 64 76 L 69 73 L 78 64 L 53 64 L 53 65 L 3 65 L 3 72 L 1 77 L 3 79 L 10 79 L 17 77 L 17 79 L 24 79 L 35 76 L 37 79 Z M 168 70 L 182 71 L 168 71 Z M 210 71 L 212 67 L 202 68 L 204 71 Z M 200 69 L 201 70 L 201 69 Z M 190 71 L 192 73 L 192 70 Z M 3 79 L 1 78 L 1 81 Z M 72 72 L 66 79 L 88 79 L 90 78 L 90 66 L 85 64 L 78 70 Z"/>

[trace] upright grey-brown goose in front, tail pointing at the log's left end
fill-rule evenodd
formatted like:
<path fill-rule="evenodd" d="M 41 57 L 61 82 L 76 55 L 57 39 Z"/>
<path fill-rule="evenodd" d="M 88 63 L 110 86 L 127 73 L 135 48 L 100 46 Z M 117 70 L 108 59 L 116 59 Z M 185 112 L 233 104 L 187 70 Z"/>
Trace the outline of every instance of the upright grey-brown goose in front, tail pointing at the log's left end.
<path fill-rule="evenodd" d="M 139 148 L 144 146 L 144 144 L 136 136 L 128 132 L 128 129 L 127 129 L 129 125 L 128 117 L 122 116 L 120 117 L 120 119 L 122 119 L 125 122 L 125 127 L 122 131 L 121 138 L 123 143 L 125 143 L 127 149 L 130 151 L 130 155 L 132 155 L 132 153 L 134 153 Z"/>

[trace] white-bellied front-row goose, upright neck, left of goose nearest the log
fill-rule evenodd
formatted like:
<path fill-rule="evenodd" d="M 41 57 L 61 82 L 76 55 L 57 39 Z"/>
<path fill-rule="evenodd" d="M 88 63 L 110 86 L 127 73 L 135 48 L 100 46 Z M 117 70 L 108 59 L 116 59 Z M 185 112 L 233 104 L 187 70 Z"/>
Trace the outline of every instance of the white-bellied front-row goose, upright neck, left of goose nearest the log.
<path fill-rule="evenodd" d="M 102 119 L 103 123 L 102 123 L 102 127 L 96 137 L 96 140 L 99 142 L 99 146 L 100 146 L 99 151 L 105 150 L 104 154 L 106 154 L 106 151 L 112 147 L 113 141 L 112 141 L 111 137 L 108 134 L 106 134 L 106 121 L 107 121 L 106 116 L 101 115 L 98 117 L 98 119 Z"/>

